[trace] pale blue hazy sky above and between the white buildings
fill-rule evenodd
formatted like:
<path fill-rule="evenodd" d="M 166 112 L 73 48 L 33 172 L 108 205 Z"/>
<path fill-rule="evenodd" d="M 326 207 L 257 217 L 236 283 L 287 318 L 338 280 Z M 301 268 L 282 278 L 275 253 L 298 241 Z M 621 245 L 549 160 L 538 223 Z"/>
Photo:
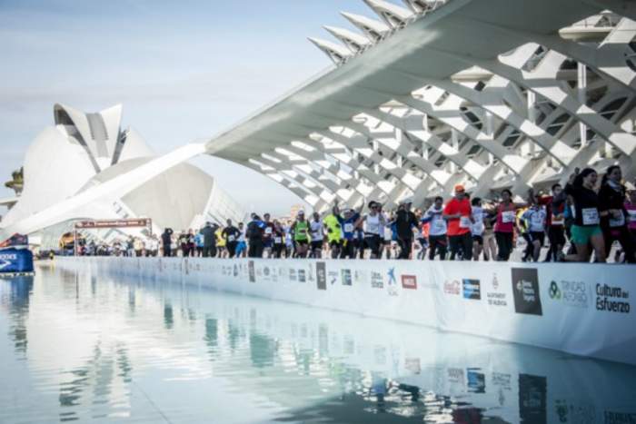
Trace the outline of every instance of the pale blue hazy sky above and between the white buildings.
<path fill-rule="evenodd" d="M 209 139 L 331 66 L 307 36 L 349 27 L 362 0 L 0 0 L 0 198 L 55 103 L 123 104 L 156 153 Z M 284 214 L 300 199 L 243 166 L 194 164 L 238 202 Z M 267 211 L 265 211 L 267 210 Z M 0 214 L 4 211 L 0 210 Z"/>

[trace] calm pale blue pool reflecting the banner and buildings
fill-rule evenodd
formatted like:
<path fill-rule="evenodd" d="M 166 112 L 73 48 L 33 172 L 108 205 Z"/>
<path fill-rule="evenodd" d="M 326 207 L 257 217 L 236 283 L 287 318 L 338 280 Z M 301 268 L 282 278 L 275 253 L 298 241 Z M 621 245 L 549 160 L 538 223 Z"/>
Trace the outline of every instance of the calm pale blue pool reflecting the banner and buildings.
<path fill-rule="evenodd" d="M 90 271 L 0 280 L 0 378 L 1 423 L 636 422 L 635 367 Z"/>

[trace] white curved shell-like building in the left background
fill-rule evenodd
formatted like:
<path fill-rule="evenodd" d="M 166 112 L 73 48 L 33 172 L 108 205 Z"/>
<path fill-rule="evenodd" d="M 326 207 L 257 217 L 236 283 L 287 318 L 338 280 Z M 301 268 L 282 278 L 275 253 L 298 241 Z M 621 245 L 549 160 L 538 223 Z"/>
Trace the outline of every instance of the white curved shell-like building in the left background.
<path fill-rule="evenodd" d="M 24 190 L 6 202 L 10 208 L 0 225 L 11 227 L 29 216 L 91 192 L 104 182 L 130 173 L 154 159 L 154 153 L 134 129 L 122 129 L 122 106 L 83 113 L 55 104 L 55 125 L 39 133 L 25 154 Z M 243 220 L 243 207 L 207 173 L 179 163 L 131 191 L 102 196 L 64 219 L 45 222 L 35 240 L 53 241 L 77 220 L 151 218 L 153 231 L 199 228 L 204 222 Z M 138 231 L 138 230 L 137 230 Z M 100 231 L 116 235 L 115 231 Z M 126 233 L 134 230 L 126 230 Z M 37 236 L 41 237 L 37 237 Z"/>

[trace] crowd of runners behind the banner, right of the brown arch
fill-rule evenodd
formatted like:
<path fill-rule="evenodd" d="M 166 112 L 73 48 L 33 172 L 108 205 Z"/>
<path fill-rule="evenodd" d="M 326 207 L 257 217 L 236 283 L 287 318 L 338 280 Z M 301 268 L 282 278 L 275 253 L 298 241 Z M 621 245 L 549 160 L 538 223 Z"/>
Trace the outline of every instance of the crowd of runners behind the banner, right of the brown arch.
<path fill-rule="evenodd" d="M 437 197 L 422 210 L 412 210 L 406 199 L 394 211 L 373 201 L 359 209 L 335 203 L 326 214 L 300 211 L 293 221 L 253 213 L 247 224 L 208 222 L 199 232 L 180 234 L 166 229 L 160 253 L 508 261 L 522 246 L 522 261 L 604 262 L 617 242 L 614 261 L 636 261 L 636 190 L 622 183 L 619 166 L 611 166 L 602 179 L 591 168 L 577 170 L 565 187 L 554 184 L 549 194 L 531 189 L 517 201 L 509 190 L 495 202 L 456 185 L 452 198 Z"/>

